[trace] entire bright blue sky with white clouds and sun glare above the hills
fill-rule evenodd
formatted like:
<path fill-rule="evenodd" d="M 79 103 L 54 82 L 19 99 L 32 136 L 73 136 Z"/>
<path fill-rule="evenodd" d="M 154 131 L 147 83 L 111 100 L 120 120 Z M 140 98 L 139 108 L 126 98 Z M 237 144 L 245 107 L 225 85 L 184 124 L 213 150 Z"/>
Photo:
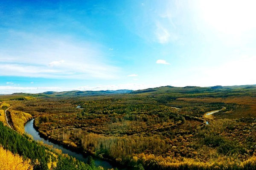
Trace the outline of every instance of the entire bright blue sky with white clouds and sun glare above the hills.
<path fill-rule="evenodd" d="M 1 0 L 0 94 L 256 84 L 254 0 Z"/>

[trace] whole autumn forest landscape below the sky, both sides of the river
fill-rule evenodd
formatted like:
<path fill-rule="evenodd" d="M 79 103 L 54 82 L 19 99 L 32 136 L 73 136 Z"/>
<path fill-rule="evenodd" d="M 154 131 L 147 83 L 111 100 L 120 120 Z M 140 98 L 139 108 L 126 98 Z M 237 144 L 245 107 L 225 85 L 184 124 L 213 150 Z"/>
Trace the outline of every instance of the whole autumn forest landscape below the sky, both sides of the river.
<path fill-rule="evenodd" d="M 45 139 L 120 169 L 256 168 L 254 85 L 12 94 L 0 101 L 0 157 L 12 155 L 24 170 L 104 169 L 34 141 L 24 130 L 33 118 Z"/>

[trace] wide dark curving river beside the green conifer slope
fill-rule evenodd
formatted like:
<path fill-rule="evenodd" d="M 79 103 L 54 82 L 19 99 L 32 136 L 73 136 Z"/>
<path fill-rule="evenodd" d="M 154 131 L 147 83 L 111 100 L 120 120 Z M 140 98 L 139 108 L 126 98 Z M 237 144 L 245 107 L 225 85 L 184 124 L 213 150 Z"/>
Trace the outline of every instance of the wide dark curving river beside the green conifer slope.
<path fill-rule="evenodd" d="M 33 122 L 34 122 L 34 119 L 31 119 L 28 122 L 26 122 L 25 131 L 26 131 L 26 133 L 32 135 L 34 140 L 43 141 L 46 144 L 52 145 L 53 147 L 62 150 L 62 153 L 67 153 L 68 155 L 73 156 L 74 158 L 78 159 L 79 161 L 83 161 L 85 163 L 87 162 L 88 156 L 84 156 L 81 153 L 74 152 L 72 150 L 69 150 L 69 149 L 65 148 L 61 144 L 55 144 L 55 143 L 50 142 L 47 139 L 42 138 L 39 135 L 38 131 L 35 130 L 35 128 L 33 127 Z M 96 166 L 102 166 L 105 169 L 116 168 L 116 166 L 114 164 L 112 164 L 111 162 L 99 159 L 97 157 L 93 157 L 93 160 L 95 161 Z M 120 167 L 118 167 L 118 169 L 119 170 L 127 170 L 126 168 L 120 168 Z"/>

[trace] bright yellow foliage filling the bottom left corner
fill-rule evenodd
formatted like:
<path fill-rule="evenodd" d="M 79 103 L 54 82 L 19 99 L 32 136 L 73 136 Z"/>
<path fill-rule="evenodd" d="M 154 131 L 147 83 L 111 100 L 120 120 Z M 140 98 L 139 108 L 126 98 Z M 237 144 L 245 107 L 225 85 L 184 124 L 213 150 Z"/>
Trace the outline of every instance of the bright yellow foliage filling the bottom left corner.
<path fill-rule="evenodd" d="M 0 147 L 0 170 L 33 170 L 30 161 Z"/>

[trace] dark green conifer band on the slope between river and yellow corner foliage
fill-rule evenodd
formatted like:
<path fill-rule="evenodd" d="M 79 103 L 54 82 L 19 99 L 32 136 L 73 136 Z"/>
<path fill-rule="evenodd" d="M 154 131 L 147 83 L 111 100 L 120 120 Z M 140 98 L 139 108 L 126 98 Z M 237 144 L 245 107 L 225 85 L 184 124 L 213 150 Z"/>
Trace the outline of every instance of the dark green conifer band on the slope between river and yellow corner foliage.
<path fill-rule="evenodd" d="M 101 168 L 84 164 L 81 161 L 56 153 L 54 150 L 22 136 L 0 122 L 0 145 L 14 154 L 31 160 L 34 170 L 49 170 L 47 163 L 57 161 L 52 170 L 99 170 Z M 56 155 L 58 157 L 56 158 Z"/>

